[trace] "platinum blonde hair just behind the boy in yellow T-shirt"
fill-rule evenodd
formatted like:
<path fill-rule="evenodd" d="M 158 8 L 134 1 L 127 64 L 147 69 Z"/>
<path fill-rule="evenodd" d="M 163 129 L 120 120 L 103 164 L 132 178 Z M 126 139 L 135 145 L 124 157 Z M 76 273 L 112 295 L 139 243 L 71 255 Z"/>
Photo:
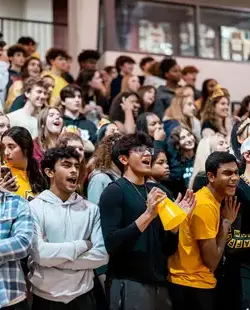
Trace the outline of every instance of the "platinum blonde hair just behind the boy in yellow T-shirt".
<path fill-rule="evenodd" d="M 205 138 L 202 138 L 198 144 L 194 166 L 193 166 L 193 174 L 190 178 L 189 188 L 193 187 L 194 179 L 199 172 L 205 171 L 205 163 L 210 154 L 216 151 L 217 139 L 221 134 L 217 133 Z"/>

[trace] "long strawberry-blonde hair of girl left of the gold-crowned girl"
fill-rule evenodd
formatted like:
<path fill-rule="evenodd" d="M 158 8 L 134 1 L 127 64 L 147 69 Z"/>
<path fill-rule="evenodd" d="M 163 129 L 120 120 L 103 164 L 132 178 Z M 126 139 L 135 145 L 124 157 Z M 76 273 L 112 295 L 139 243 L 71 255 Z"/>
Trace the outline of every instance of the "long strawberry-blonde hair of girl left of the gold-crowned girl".
<path fill-rule="evenodd" d="M 170 107 L 165 111 L 164 120 L 177 120 L 181 126 L 193 132 L 193 117 L 190 118 L 183 114 L 183 108 L 188 98 L 190 98 L 190 95 L 187 94 L 186 87 L 178 89 L 175 97 L 171 101 Z"/>

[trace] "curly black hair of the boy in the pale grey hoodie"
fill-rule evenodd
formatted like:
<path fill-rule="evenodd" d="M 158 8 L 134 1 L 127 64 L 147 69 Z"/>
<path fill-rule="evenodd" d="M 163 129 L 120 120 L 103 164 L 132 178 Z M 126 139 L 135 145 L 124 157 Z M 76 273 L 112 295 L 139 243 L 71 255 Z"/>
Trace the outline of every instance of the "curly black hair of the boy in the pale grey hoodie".
<path fill-rule="evenodd" d="M 49 178 L 44 172 L 45 169 L 49 168 L 51 170 L 55 169 L 55 165 L 59 160 L 62 160 L 64 158 L 74 158 L 76 160 L 80 160 L 80 155 L 77 152 L 77 150 L 73 146 L 67 146 L 67 147 L 53 147 L 51 149 L 48 149 L 45 154 L 44 158 L 41 161 L 41 169 L 44 177 L 49 183 Z"/>

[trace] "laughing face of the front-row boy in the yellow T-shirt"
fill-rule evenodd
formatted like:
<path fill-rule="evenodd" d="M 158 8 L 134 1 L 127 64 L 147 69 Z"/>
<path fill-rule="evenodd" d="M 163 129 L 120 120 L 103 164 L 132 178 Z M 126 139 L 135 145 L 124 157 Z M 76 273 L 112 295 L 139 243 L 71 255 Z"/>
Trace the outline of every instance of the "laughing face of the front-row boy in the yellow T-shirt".
<path fill-rule="evenodd" d="M 209 182 L 221 197 L 234 196 L 239 182 L 239 169 L 235 162 L 221 164 L 216 175 L 207 174 Z"/>

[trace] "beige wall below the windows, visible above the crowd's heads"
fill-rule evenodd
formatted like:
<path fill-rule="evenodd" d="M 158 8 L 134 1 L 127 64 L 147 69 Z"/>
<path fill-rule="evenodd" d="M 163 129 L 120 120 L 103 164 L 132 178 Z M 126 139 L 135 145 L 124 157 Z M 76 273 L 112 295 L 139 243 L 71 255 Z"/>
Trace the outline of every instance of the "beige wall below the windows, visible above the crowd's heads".
<path fill-rule="evenodd" d="M 143 54 L 135 53 L 122 53 L 124 55 L 131 56 L 138 64 Z M 121 52 L 105 52 L 101 65 L 114 65 L 115 60 Z M 157 60 L 161 60 L 162 57 L 155 57 Z M 249 76 L 250 76 L 250 64 L 248 63 L 236 63 L 226 61 L 215 60 L 203 60 L 195 58 L 176 57 L 178 63 L 183 67 L 187 65 L 195 65 L 200 69 L 198 75 L 197 87 L 201 88 L 202 82 L 208 78 L 215 78 L 221 86 L 228 88 L 231 93 L 232 100 L 242 100 L 246 95 L 250 94 Z M 135 68 L 135 73 L 140 74 L 139 66 Z"/>

